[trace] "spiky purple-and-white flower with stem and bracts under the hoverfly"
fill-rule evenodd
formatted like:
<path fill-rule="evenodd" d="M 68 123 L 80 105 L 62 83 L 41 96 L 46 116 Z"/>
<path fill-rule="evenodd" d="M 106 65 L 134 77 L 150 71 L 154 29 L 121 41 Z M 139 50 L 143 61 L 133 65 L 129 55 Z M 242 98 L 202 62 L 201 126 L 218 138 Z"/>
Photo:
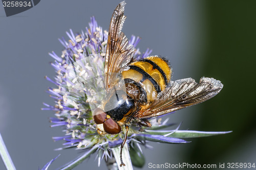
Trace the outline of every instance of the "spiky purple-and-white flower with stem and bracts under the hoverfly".
<path fill-rule="evenodd" d="M 119 6 L 124 7 L 124 2 L 120 3 Z M 59 39 L 60 43 L 65 47 L 65 50 L 62 51 L 62 55 L 58 56 L 54 52 L 50 53 L 50 56 L 55 59 L 51 64 L 56 70 L 56 76 L 54 80 L 48 77 L 46 77 L 46 79 L 55 85 L 54 88 L 48 89 L 51 98 L 55 99 L 55 105 L 51 106 L 44 103 L 47 107 L 43 108 L 43 110 L 55 111 L 55 117 L 51 117 L 51 123 L 53 123 L 51 127 L 61 126 L 66 130 L 65 135 L 53 137 L 55 141 L 64 140 L 66 142 L 61 149 L 76 148 L 86 150 L 86 152 L 62 169 L 76 166 L 95 152 L 97 153 L 98 165 L 100 165 L 102 159 L 105 159 L 109 169 L 112 169 L 122 164 L 122 161 L 120 161 L 119 146 L 122 144 L 125 132 L 127 133 L 128 131 L 123 126 L 121 127 L 120 133 L 100 134 L 99 127 L 95 124 L 93 118 L 95 108 L 102 105 L 100 100 L 106 100 L 108 97 L 105 95 L 104 88 L 104 62 L 106 48 L 108 47 L 108 32 L 103 31 L 102 28 L 98 26 L 95 18 L 91 17 L 89 28 L 86 28 L 85 32 L 82 31 L 80 34 L 74 34 L 73 31 L 70 30 L 70 32 L 67 32 L 67 35 L 69 37 L 68 41 L 64 38 Z M 132 36 L 129 40 L 129 44 L 135 48 L 132 61 L 144 59 L 152 52 L 147 49 L 144 53 L 141 53 L 139 48 L 136 48 L 139 41 L 140 38 L 135 36 Z M 166 88 L 169 89 L 169 91 L 166 90 L 164 93 L 171 95 L 174 90 L 177 90 L 174 87 L 178 86 L 180 83 L 184 83 L 184 81 L 189 82 L 191 86 L 194 83 L 193 85 L 195 86 L 193 86 L 193 88 L 197 88 L 196 85 L 200 86 L 202 83 L 213 80 L 214 79 L 202 78 L 200 84 L 195 83 L 193 79 L 183 79 L 183 82 L 181 80 L 170 82 L 170 88 Z M 215 80 L 214 83 L 214 86 L 222 88 L 222 84 L 219 81 Z M 200 86 L 200 88 L 205 87 Z M 221 88 L 218 90 L 220 91 Z M 184 89 L 182 90 L 184 92 Z M 126 92 L 126 90 L 124 91 Z M 219 91 L 216 91 L 215 93 L 217 94 Z M 196 92 L 196 90 L 194 92 Z M 208 92 L 207 95 L 210 95 L 212 91 Z M 190 93 L 186 94 L 188 95 Z M 157 97 L 158 99 L 162 99 L 163 92 Z M 204 97 L 209 98 L 208 96 Z M 186 96 L 182 95 L 180 98 L 184 101 Z M 187 101 L 189 102 L 189 99 Z M 154 102 L 153 104 L 157 105 Z M 174 110 L 168 110 L 168 112 L 172 111 Z M 173 125 L 169 124 L 167 119 L 163 121 L 162 117 L 152 116 L 150 118 L 143 118 L 143 121 L 144 123 L 151 124 L 151 128 L 141 126 L 143 124 L 137 124 L 141 123 L 140 120 L 129 122 L 129 133 L 126 134 L 126 144 L 124 144 L 122 152 L 122 158 L 126 166 L 122 168 L 132 169 L 132 165 L 143 166 L 144 157 L 141 145 L 149 147 L 147 144 L 148 141 L 187 143 L 188 141 L 180 138 L 228 133 L 182 131 L 178 129 L 179 127 L 174 130 L 162 130 L 163 128 L 168 128 Z"/>

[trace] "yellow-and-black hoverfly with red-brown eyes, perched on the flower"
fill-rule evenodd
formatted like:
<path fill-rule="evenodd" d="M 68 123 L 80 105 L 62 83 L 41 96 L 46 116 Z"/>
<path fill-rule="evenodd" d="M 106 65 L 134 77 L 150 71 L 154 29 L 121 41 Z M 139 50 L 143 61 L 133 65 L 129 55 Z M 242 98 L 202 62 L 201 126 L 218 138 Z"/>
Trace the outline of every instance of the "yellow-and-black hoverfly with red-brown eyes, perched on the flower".
<path fill-rule="evenodd" d="M 168 61 L 159 56 L 132 61 L 134 46 L 129 44 L 121 31 L 126 18 L 125 4 L 121 2 L 111 18 L 104 65 L 106 98 L 100 107 L 93 110 L 100 135 L 118 134 L 125 126 L 120 166 L 125 165 L 122 148 L 130 125 L 151 127 L 147 118 L 204 102 L 223 87 L 220 81 L 213 78 L 203 77 L 199 83 L 191 78 L 170 81 L 172 69 Z M 124 82 L 124 92 L 117 85 L 120 80 Z"/>

